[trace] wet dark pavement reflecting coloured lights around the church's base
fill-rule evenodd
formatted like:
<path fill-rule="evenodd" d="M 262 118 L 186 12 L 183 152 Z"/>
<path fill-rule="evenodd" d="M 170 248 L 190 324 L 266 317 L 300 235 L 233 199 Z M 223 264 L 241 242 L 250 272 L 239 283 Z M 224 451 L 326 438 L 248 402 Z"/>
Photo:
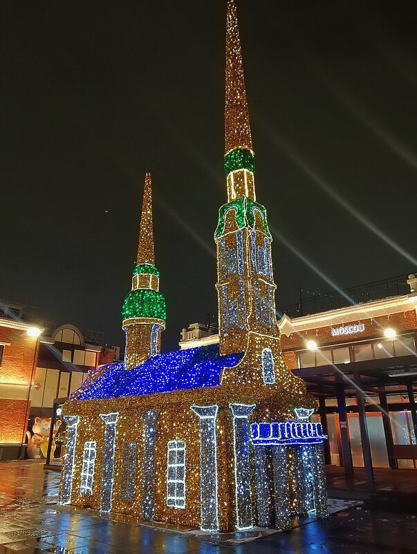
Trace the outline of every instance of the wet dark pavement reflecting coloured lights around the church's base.
<path fill-rule="evenodd" d="M 59 473 L 36 461 L 0 463 L 0 554 L 409 554 L 417 553 L 416 512 L 362 504 L 291 532 L 213 538 L 157 528 L 122 515 L 59 506 Z M 416 506 L 417 510 L 417 506 Z M 244 540 L 246 542 L 237 542 Z M 228 542 L 227 542 L 228 541 Z M 234 541 L 234 542 L 233 542 Z"/>

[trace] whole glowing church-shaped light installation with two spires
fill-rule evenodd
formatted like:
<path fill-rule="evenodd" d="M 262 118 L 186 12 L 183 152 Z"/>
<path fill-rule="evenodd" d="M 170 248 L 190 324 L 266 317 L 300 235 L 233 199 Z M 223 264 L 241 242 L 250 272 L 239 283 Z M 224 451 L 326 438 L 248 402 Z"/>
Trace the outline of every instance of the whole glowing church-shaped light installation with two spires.
<path fill-rule="evenodd" d="M 64 405 L 60 501 L 218 533 L 326 517 L 319 423 L 284 362 L 271 235 L 257 203 L 237 12 L 228 1 L 225 176 L 217 249 L 219 344 L 160 353 L 165 298 L 147 174 L 122 315 L 124 362 L 89 373 Z"/>

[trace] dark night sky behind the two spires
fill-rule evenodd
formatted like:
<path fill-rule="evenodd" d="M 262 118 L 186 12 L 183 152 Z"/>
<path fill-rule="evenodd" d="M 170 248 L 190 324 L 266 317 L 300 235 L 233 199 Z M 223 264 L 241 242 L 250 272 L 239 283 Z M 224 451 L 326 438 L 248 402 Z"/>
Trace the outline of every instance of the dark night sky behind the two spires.
<path fill-rule="evenodd" d="M 417 270 L 416 2 L 237 8 L 277 306 Z M 122 346 L 148 171 L 175 348 L 217 309 L 225 1 L 0 11 L 0 298 Z"/>

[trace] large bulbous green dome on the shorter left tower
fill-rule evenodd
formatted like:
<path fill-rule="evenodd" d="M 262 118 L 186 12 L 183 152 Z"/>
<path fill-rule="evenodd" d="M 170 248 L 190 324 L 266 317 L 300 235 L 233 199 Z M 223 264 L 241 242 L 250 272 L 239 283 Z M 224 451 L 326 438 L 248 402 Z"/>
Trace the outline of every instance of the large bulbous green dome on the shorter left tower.
<path fill-rule="evenodd" d="M 124 320 L 129 319 L 129 317 L 154 317 L 166 321 L 165 297 L 158 290 L 151 288 L 131 290 L 124 299 L 122 315 Z"/>

